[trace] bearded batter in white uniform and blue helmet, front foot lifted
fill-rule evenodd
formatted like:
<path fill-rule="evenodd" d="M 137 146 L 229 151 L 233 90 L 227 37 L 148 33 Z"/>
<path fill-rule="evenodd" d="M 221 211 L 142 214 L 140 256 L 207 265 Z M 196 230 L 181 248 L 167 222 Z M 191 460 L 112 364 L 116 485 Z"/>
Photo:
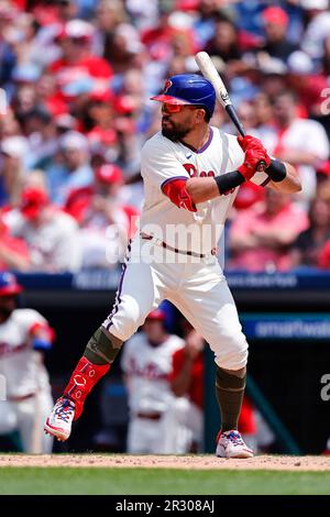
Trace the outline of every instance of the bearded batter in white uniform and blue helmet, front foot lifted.
<path fill-rule="evenodd" d="M 128 246 L 112 312 L 87 343 L 45 430 L 61 440 L 69 437 L 123 341 L 166 298 L 215 353 L 221 413 L 217 455 L 249 458 L 253 451 L 238 430 L 248 342 L 216 248 L 240 185 L 253 182 L 290 194 L 300 190 L 300 180 L 292 165 L 272 160 L 260 140 L 210 125 L 216 92 L 206 78 L 173 76 L 152 100 L 162 103 L 162 131 L 142 148 L 140 232 Z M 256 172 L 260 162 L 264 172 Z"/>

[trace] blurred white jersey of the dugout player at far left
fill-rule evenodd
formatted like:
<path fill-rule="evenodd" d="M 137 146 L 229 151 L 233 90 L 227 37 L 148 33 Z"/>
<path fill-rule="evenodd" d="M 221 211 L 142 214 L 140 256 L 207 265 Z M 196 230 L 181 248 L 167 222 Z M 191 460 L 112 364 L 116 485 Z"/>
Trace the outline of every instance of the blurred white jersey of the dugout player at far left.
<path fill-rule="evenodd" d="M 0 324 L 0 375 L 6 378 L 8 398 L 50 391 L 47 371 L 31 343 L 35 324 L 47 326 L 47 321 L 33 309 L 15 309 Z"/>

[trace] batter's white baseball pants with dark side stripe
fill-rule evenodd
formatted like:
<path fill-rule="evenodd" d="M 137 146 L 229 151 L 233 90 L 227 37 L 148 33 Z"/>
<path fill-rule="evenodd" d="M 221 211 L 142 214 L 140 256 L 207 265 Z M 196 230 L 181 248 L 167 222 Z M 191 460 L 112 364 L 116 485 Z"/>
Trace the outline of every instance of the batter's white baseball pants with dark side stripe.
<path fill-rule="evenodd" d="M 179 255 L 136 237 L 129 245 L 112 312 L 102 324 L 127 341 L 164 299 L 205 338 L 220 367 L 246 365 L 248 342 L 217 257 Z"/>

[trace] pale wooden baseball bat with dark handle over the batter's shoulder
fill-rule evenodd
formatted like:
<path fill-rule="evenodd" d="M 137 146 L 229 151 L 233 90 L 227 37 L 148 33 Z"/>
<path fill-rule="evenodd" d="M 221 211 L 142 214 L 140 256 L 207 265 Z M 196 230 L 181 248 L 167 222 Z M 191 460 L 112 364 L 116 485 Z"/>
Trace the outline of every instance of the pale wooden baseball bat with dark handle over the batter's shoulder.
<path fill-rule="evenodd" d="M 212 59 L 210 58 L 207 52 L 198 52 L 195 56 L 195 61 L 204 77 L 208 79 L 213 86 L 217 99 L 219 100 L 220 105 L 226 109 L 229 118 L 234 123 L 239 133 L 242 136 L 245 136 L 246 131 L 244 130 L 243 124 L 241 123 L 238 113 L 235 112 L 235 109 L 232 106 L 223 80 L 221 79 Z M 265 166 L 265 162 L 260 162 L 257 165 L 257 170 L 264 170 Z"/>

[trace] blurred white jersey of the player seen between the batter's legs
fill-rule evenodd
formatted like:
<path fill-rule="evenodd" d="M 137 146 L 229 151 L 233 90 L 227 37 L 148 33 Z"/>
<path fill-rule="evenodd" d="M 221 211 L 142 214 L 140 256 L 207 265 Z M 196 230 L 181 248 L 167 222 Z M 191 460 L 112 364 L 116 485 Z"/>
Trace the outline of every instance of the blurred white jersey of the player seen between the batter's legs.
<path fill-rule="evenodd" d="M 173 353 L 185 342 L 177 336 L 152 346 L 144 332 L 139 332 L 123 346 L 122 369 L 128 378 L 129 406 L 132 414 L 167 409 L 174 398 L 168 375 Z"/>

